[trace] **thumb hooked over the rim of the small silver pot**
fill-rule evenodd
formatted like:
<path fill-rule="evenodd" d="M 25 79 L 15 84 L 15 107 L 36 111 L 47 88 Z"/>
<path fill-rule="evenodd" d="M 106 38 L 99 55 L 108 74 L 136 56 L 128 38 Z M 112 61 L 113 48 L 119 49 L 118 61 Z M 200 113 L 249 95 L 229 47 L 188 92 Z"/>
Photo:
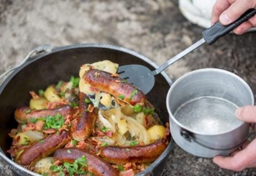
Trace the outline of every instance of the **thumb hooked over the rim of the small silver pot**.
<path fill-rule="evenodd" d="M 235 115 L 244 122 L 256 122 L 256 106 L 243 106 L 237 108 Z"/>

